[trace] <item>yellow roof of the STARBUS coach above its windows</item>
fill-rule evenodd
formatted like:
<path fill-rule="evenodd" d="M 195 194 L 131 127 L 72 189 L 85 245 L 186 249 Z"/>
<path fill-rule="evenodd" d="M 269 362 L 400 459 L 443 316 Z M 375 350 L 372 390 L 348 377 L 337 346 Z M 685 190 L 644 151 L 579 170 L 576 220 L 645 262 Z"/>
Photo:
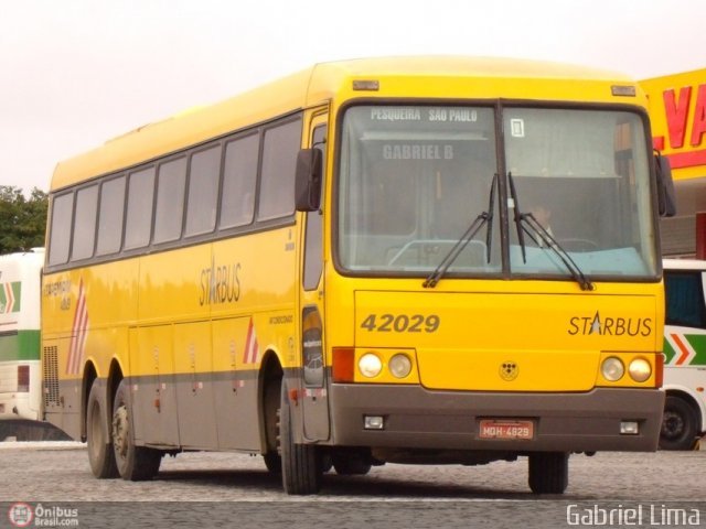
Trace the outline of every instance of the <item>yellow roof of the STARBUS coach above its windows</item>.
<path fill-rule="evenodd" d="M 377 80 L 376 91 L 354 91 L 352 80 Z M 430 83 L 435 79 L 435 83 Z M 517 83 L 521 80 L 522 83 Z M 547 84 L 552 80 L 550 84 Z M 350 97 L 515 98 L 622 101 L 607 84 L 635 86 L 614 72 L 526 60 L 406 56 L 315 64 L 222 102 L 183 111 L 108 140 L 60 162 L 52 191 L 178 152 L 247 126 Z M 643 105 L 644 101 L 640 100 Z"/>

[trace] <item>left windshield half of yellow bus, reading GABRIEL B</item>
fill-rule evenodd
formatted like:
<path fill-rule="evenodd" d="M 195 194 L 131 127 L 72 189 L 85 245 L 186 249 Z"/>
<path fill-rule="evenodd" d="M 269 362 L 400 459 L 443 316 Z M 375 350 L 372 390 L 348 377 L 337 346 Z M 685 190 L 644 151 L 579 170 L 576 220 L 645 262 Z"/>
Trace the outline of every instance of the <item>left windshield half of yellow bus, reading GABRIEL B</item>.
<path fill-rule="evenodd" d="M 494 129 L 492 108 L 349 109 L 339 182 L 339 259 L 343 267 L 413 273 L 434 270 L 489 208 L 498 173 Z M 449 272 L 500 272 L 498 218 L 488 223 L 482 237 L 469 241 Z"/>

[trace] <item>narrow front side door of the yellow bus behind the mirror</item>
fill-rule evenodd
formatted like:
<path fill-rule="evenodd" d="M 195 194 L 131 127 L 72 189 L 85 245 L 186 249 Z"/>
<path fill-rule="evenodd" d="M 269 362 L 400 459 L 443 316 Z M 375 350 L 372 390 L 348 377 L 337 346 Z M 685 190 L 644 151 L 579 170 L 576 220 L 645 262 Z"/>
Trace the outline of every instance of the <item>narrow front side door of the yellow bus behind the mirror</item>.
<path fill-rule="evenodd" d="M 321 149 L 325 168 L 327 114 L 310 120 L 309 147 Z M 325 179 L 324 179 L 325 182 Z M 323 196 L 323 191 L 322 191 Z M 302 380 L 301 402 L 303 435 L 308 441 L 329 439 L 329 397 L 327 365 L 323 354 L 323 207 L 303 214 L 300 317 Z"/>

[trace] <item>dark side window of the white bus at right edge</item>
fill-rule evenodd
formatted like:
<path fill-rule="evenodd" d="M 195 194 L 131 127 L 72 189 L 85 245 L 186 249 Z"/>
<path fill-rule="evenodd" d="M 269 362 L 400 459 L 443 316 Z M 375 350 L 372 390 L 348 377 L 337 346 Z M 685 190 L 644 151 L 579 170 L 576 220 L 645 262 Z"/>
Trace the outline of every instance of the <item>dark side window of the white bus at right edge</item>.
<path fill-rule="evenodd" d="M 664 272 L 666 293 L 666 324 L 685 327 L 706 328 L 706 307 L 702 272 Z"/>

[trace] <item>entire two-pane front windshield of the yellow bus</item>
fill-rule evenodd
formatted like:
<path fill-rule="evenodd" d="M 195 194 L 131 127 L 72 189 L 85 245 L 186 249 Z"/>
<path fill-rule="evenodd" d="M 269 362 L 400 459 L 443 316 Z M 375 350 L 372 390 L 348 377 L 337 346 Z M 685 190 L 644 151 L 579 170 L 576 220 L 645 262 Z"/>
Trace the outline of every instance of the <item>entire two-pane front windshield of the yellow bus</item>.
<path fill-rule="evenodd" d="M 443 264 L 446 276 L 656 277 L 641 116 L 504 107 L 496 119 L 496 108 L 346 110 L 336 186 L 340 267 L 428 277 L 457 251 Z M 498 190 L 495 175 L 503 182 Z M 482 227 L 469 234 L 480 217 Z M 453 250 L 459 240 L 462 249 Z"/>

